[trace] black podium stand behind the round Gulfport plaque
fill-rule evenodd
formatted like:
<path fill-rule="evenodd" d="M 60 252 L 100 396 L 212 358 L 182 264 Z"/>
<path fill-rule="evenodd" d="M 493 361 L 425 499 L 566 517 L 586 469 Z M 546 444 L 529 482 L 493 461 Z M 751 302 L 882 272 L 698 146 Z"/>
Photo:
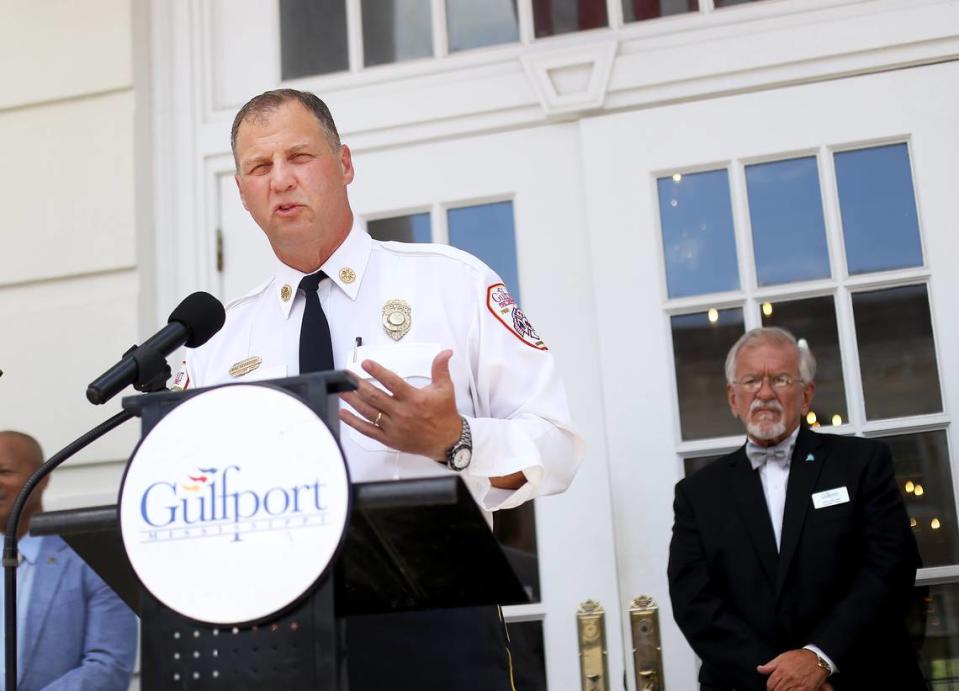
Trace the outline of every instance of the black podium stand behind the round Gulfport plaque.
<path fill-rule="evenodd" d="M 338 408 L 331 394 L 350 386 L 342 373 L 270 384 L 306 401 L 337 433 L 337 425 L 329 424 Z M 200 391 L 139 396 L 125 399 L 124 407 L 138 411 L 145 435 Z M 60 535 L 140 615 L 144 691 L 347 691 L 351 617 L 528 602 L 459 477 L 362 483 L 351 489 L 350 522 L 335 563 L 288 611 L 243 628 L 196 622 L 146 592 L 123 549 L 117 506 L 42 513 L 33 518 L 31 532 Z"/>

